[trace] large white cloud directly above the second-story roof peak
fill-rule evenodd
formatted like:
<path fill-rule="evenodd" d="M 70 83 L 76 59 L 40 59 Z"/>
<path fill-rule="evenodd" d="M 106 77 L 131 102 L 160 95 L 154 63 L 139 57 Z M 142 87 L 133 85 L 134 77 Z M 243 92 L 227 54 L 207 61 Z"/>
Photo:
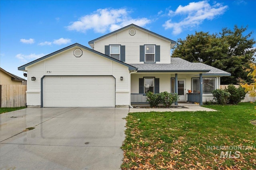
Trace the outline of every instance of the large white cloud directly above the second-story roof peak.
<path fill-rule="evenodd" d="M 74 21 L 67 26 L 68 30 L 86 32 L 93 29 L 97 33 L 105 33 L 106 31 L 115 31 L 121 27 L 134 23 L 138 26 L 144 26 L 150 23 L 147 18 L 131 18 L 131 12 L 124 9 L 98 9 L 92 14 L 81 17 L 78 21 Z"/>

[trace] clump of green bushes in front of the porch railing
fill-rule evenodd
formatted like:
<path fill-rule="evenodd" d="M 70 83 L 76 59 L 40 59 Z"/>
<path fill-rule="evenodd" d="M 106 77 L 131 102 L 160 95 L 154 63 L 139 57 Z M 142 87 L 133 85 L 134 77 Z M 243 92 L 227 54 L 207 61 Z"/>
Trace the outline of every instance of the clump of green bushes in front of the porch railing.
<path fill-rule="evenodd" d="M 161 92 L 161 93 L 146 93 L 147 101 L 150 104 L 150 107 L 156 107 L 158 104 L 164 104 L 164 107 L 170 107 L 173 102 L 178 100 L 178 94 L 171 94 L 168 92 Z"/>

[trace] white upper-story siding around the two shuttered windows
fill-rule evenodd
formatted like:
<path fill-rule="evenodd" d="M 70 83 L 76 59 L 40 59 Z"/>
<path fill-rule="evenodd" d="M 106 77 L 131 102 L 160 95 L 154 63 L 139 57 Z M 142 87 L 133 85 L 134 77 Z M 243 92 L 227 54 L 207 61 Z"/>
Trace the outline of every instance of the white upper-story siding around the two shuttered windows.
<path fill-rule="evenodd" d="M 131 28 L 136 30 L 135 35 L 129 34 Z M 144 63 L 140 62 L 140 45 L 144 44 L 160 45 L 160 62 L 156 63 L 170 63 L 170 42 L 135 27 L 95 41 L 94 50 L 105 53 L 105 45 L 125 45 L 125 63 L 139 64 Z"/>

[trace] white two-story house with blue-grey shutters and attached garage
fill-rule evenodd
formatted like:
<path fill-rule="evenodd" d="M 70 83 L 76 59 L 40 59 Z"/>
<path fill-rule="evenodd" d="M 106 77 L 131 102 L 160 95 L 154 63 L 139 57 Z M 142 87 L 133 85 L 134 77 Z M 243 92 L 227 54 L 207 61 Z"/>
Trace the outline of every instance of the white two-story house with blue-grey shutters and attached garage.
<path fill-rule="evenodd" d="M 220 77 L 230 73 L 172 58 L 175 43 L 131 24 L 89 41 L 92 49 L 78 43 L 60 49 L 18 68 L 27 71 L 27 105 L 128 107 L 146 103 L 148 91 L 200 104 L 212 100 Z"/>

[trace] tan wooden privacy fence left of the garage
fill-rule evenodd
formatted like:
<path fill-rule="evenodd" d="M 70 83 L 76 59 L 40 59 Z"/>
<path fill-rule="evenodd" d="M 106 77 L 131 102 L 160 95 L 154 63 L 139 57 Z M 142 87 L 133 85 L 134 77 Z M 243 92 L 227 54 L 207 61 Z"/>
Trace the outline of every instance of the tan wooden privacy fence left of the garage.
<path fill-rule="evenodd" d="M 26 106 L 26 85 L 0 85 L 0 107 Z"/>

